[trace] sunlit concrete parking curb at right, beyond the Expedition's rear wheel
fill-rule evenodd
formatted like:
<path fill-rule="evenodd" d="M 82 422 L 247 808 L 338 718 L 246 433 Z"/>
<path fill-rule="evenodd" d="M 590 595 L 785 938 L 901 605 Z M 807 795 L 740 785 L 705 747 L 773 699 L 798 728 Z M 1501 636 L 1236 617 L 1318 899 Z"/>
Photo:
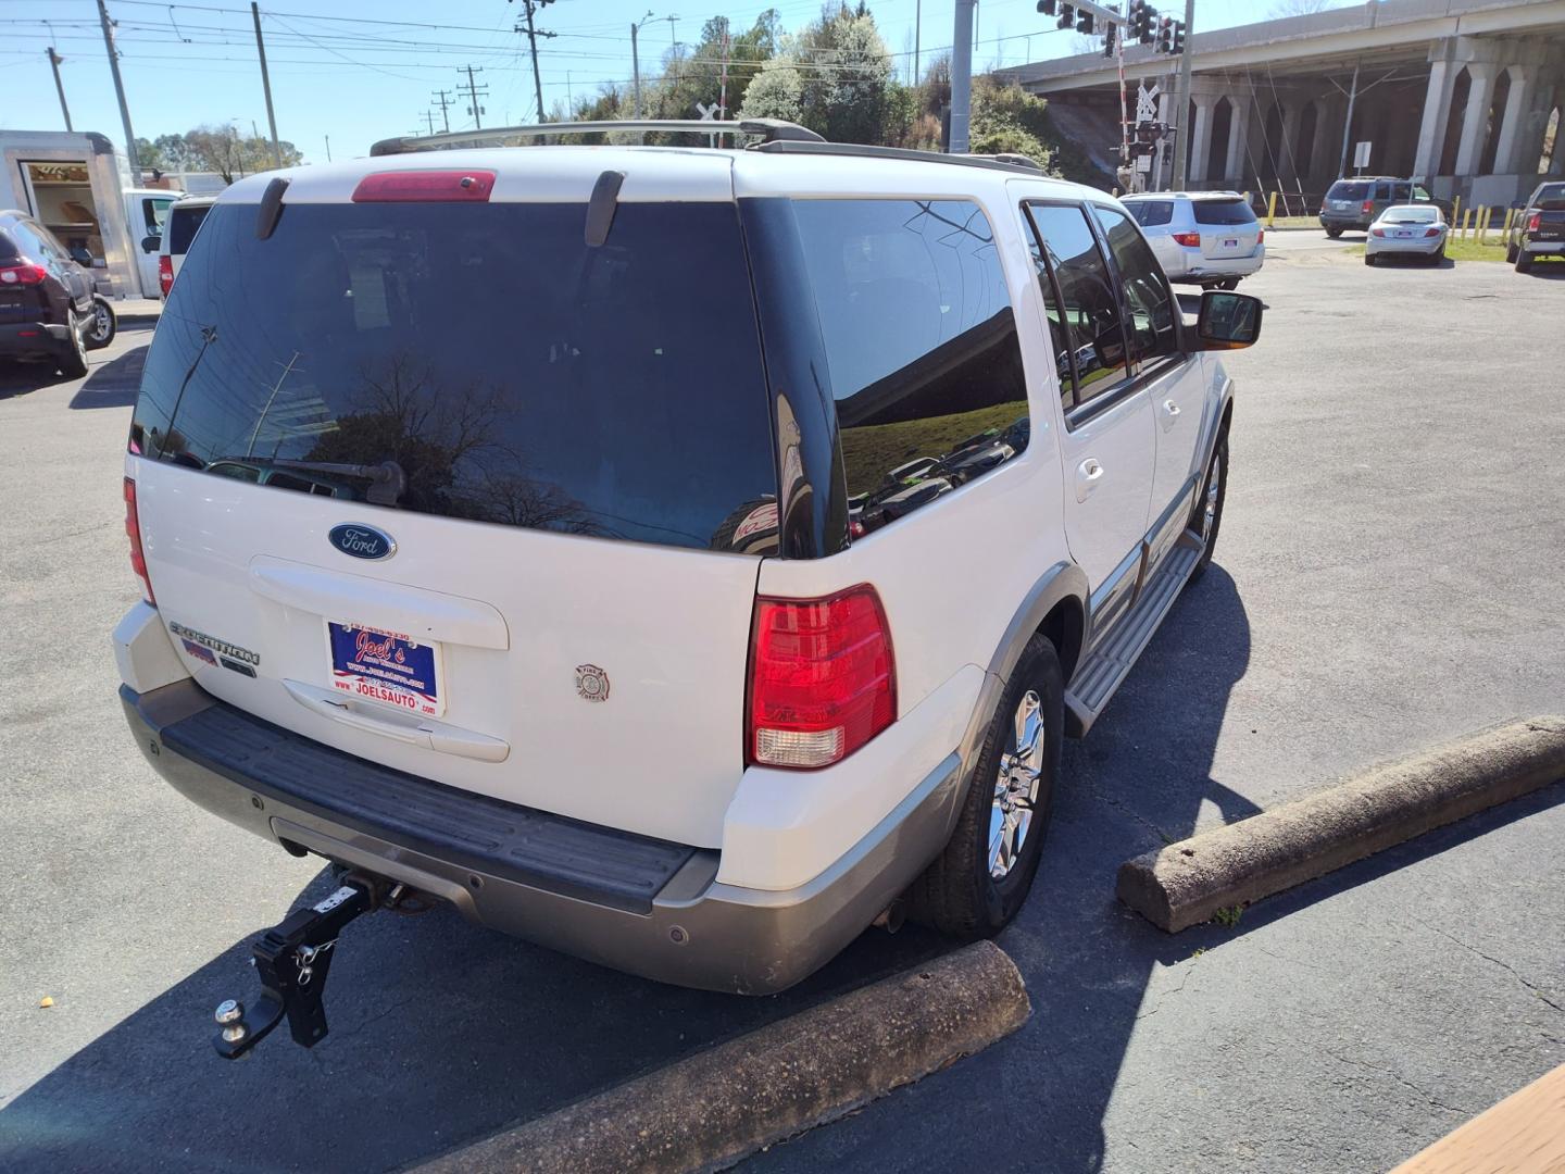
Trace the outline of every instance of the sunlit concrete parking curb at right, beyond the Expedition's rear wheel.
<path fill-rule="evenodd" d="M 1119 866 L 1119 899 L 1177 933 L 1565 778 L 1565 717 L 1531 717 L 1377 767 Z"/>

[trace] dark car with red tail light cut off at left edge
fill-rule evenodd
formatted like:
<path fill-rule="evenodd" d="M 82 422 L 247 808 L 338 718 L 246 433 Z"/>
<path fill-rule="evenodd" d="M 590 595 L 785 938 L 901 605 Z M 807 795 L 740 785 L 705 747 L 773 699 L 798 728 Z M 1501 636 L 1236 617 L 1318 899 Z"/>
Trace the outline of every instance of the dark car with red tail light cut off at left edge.
<path fill-rule="evenodd" d="M 114 338 L 114 310 L 92 272 L 25 211 L 0 211 L 0 360 L 88 373 L 88 351 Z"/>

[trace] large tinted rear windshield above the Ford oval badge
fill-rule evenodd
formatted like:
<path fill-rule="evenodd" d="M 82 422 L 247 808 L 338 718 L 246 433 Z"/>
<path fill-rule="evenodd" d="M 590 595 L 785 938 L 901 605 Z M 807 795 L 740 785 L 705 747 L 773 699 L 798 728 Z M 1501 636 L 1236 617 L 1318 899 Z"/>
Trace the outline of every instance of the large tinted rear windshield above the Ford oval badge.
<path fill-rule="evenodd" d="M 131 451 L 372 504 L 399 473 L 419 513 L 762 553 L 743 521 L 775 515 L 776 465 L 732 203 L 623 203 L 601 247 L 582 203 L 297 203 L 264 241 L 255 218 L 208 214 Z"/>

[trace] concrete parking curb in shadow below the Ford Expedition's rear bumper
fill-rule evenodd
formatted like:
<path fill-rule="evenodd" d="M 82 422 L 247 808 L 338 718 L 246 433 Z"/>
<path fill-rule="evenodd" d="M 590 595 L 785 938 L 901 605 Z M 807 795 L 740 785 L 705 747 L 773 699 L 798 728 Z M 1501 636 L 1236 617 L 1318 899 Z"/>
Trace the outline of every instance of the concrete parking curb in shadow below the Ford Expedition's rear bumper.
<path fill-rule="evenodd" d="M 711 1169 L 978 1052 L 1028 1013 L 1016 964 L 978 942 L 448 1154 L 418 1174 Z"/>

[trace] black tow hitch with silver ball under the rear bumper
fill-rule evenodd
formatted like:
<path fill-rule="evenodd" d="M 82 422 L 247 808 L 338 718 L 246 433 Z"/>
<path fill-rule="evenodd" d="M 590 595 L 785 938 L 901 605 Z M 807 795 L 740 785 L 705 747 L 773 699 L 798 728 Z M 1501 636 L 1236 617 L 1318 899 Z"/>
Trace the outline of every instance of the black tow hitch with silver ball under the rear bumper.
<path fill-rule="evenodd" d="M 326 975 L 343 927 L 376 909 L 387 884 L 351 873 L 343 888 L 308 909 L 288 914 L 255 942 L 250 963 L 261 977 L 261 997 L 246 1010 L 238 999 L 218 1005 L 213 1046 L 224 1060 L 238 1060 L 264 1039 L 288 1016 L 296 1044 L 315 1047 L 326 1038 Z M 394 899 L 396 894 L 391 894 Z"/>

